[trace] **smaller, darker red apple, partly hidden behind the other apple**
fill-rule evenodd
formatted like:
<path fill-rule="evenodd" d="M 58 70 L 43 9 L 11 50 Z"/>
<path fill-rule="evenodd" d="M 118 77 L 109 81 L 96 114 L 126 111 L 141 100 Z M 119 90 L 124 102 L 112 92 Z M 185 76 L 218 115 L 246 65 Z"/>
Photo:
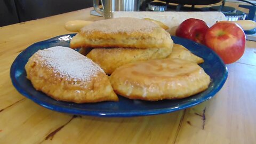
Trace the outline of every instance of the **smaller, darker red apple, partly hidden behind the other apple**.
<path fill-rule="evenodd" d="M 175 35 L 203 44 L 207 29 L 209 29 L 209 26 L 203 20 L 190 18 L 180 23 Z"/>

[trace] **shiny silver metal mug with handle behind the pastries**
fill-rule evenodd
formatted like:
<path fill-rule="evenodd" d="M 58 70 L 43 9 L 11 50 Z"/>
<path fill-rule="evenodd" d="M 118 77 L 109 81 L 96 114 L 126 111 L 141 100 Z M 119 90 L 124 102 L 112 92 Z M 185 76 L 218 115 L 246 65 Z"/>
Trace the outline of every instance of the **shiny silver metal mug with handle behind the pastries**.
<path fill-rule="evenodd" d="M 140 0 L 101 0 L 102 9 L 99 1 L 93 0 L 93 7 L 105 19 L 112 18 L 114 11 L 139 11 L 140 8 Z"/>

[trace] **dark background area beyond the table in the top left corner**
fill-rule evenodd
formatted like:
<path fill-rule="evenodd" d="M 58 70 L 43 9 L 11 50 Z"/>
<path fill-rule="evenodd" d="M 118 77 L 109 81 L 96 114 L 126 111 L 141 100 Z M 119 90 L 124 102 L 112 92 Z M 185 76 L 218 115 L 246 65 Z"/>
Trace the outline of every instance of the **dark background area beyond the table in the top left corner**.
<path fill-rule="evenodd" d="M 0 27 L 92 7 L 92 0 L 0 0 Z"/>

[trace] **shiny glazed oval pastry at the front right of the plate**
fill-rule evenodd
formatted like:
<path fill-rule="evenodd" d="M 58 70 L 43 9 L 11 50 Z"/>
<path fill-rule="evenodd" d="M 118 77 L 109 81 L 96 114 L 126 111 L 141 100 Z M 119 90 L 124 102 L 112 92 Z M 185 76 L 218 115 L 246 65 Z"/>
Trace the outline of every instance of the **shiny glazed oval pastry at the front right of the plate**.
<path fill-rule="evenodd" d="M 182 59 L 133 62 L 110 76 L 114 91 L 129 99 L 181 99 L 202 92 L 210 84 L 203 68 Z"/>

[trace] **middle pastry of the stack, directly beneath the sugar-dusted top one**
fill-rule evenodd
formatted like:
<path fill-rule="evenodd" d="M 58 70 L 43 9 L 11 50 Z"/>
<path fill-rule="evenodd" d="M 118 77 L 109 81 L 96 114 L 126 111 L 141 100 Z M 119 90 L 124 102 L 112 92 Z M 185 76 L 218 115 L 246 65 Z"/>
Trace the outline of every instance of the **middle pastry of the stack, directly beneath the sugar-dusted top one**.
<path fill-rule="evenodd" d="M 82 53 L 86 53 L 83 51 Z M 93 49 L 86 57 L 97 63 L 107 74 L 127 63 L 135 61 L 146 61 L 150 59 L 164 59 L 172 52 L 170 47 L 151 48 L 151 49 L 129 49 L 129 48 L 111 48 L 111 49 Z"/>

